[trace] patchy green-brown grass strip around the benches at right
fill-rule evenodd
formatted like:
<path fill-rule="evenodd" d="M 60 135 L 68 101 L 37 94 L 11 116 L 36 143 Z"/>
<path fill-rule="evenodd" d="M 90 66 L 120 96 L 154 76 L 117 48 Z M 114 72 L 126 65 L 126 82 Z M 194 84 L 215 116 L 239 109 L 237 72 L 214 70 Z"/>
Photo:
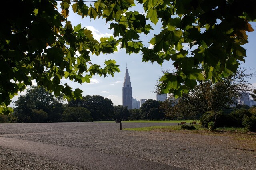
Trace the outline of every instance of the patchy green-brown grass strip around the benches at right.
<path fill-rule="evenodd" d="M 187 130 L 181 129 L 180 126 L 176 125 L 124 128 L 123 130 L 229 136 L 232 139 L 232 142 L 237 143 L 238 148 L 256 151 L 256 133 L 248 132 L 246 128 L 223 127 L 216 128 L 214 131 L 209 131 L 207 128 L 200 127 L 200 125 L 195 125 L 195 128 L 195 130 Z"/>

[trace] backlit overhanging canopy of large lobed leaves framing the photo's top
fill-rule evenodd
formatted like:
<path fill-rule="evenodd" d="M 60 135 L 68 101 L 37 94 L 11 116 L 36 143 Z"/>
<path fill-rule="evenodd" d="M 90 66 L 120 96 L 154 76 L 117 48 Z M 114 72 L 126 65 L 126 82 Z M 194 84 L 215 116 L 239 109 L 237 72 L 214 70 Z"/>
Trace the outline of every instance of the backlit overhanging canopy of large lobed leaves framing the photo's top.
<path fill-rule="evenodd" d="M 58 4 L 57 2 L 60 2 Z M 62 78 L 90 82 L 95 75 L 119 72 L 114 60 L 104 65 L 91 62 L 92 55 L 114 53 L 117 45 L 127 53 L 142 53 L 142 61 L 174 61 L 175 74 L 164 75 L 162 92 L 176 97 L 193 89 L 196 80 L 217 82 L 244 61 L 246 31 L 253 31 L 255 0 L 138 0 L 144 14 L 132 10 L 134 0 L 8 0 L 12 12 L 2 14 L 0 27 L 0 112 L 8 113 L 10 99 L 36 80 L 38 86 L 68 100 L 82 98 Z M 70 8 L 72 7 L 72 9 Z M 61 8 L 61 12 L 58 9 Z M 113 36 L 94 39 L 81 24 L 72 26 L 67 16 L 74 13 L 103 18 Z M 146 47 L 140 35 L 160 23 L 159 34 Z M 188 46 L 190 49 L 187 49 Z"/>

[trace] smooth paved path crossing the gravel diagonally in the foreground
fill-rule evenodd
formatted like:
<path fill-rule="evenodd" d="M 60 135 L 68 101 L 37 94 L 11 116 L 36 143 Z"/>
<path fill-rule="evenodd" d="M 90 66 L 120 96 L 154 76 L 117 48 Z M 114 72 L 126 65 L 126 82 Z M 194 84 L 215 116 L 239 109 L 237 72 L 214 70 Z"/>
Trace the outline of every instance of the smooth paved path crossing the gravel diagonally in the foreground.
<path fill-rule="evenodd" d="M 1 135 L 0 146 L 22 152 L 43 156 L 70 165 L 90 170 L 182 170 L 174 166 L 138 160 L 113 154 L 105 154 L 82 148 L 71 148 L 43 144 L 28 140 L 6 138 Z M 10 136 L 10 135 L 6 135 Z"/>

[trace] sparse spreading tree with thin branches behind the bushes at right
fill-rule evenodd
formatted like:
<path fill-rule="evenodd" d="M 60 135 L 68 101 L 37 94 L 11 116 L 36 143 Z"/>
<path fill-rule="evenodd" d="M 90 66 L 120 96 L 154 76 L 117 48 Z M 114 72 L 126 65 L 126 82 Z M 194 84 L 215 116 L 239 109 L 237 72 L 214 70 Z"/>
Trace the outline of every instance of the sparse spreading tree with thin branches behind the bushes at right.
<path fill-rule="evenodd" d="M 190 93 L 177 99 L 178 103 L 174 107 L 164 109 L 166 116 L 171 119 L 199 119 L 206 111 L 214 111 L 217 114 L 222 110 L 230 113 L 232 107 L 238 105 L 237 97 L 241 95 L 240 92 L 251 90 L 246 79 L 254 74 L 248 73 L 249 71 L 250 69 L 238 69 L 236 73 L 222 78 L 215 84 L 209 80 L 198 81 L 198 84 L 190 89 Z M 159 87 L 156 87 L 155 91 L 159 91 Z M 176 102 L 173 97 L 171 101 Z"/>

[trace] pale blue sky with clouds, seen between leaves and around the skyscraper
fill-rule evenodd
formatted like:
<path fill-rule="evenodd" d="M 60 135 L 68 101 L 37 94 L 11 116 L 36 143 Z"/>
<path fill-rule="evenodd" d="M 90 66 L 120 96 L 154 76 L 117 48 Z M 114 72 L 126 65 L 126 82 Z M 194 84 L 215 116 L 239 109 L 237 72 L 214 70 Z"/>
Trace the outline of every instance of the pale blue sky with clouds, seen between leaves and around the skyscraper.
<path fill-rule="evenodd" d="M 143 13 L 143 9 L 140 7 L 135 7 L 134 10 L 137 10 L 140 13 Z M 82 27 L 86 27 L 87 29 L 92 31 L 94 38 L 99 40 L 100 37 L 109 37 L 113 34 L 113 30 L 109 30 L 109 24 L 102 19 L 90 19 L 84 18 L 81 19 L 81 16 L 72 13 L 72 9 L 70 9 L 70 15 L 68 16 L 68 20 L 71 21 L 72 26 L 76 26 L 81 23 Z M 154 28 L 154 34 L 158 34 L 160 32 L 160 23 L 154 26 L 153 23 L 150 23 Z M 256 30 L 256 23 L 251 23 L 252 28 Z M 143 36 L 141 34 L 140 40 L 143 41 L 143 44 L 149 47 L 149 41 L 152 38 L 153 34 L 149 34 L 148 36 Z M 244 45 L 246 49 L 246 62 L 241 63 L 242 67 L 252 68 L 253 72 L 256 71 L 256 31 L 247 32 L 249 43 Z M 162 69 L 173 69 L 172 61 L 165 61 L 162 66 L 158 63 L 145 63 L 142 62 L 142 55 L 139 54 L 126 54 L 125 49 L 121 49 L 120 51 L 114 54 L 106 54 L 95 56 L 92 55 L 91 60 L 94 64 L 103 65 L 105 60 L 115 59 L 116 64 L 119 65 L 120 73 L 115 73 L 114 77 L 108 75 L 107 77 L 100 77 L 95 75 L 92 77 L 90 83 L 75 83 L 68 79 L 62 79 L 62 83 L 68 83 L 70 87 L 73 89 L 79 88 L 83 90 L 83 96 L 86 95 L 101 95 L 105 98 L 111 99 L 114 105 L 122 105 L 122 87 L 124 82 L 124 76 L 126 73 L 126 63 L 128 67 L 128 73 L 130 75 L 131 83 L 132 83 L 132 95 L 135 99 L 155 99 L 156 94 L 151 93 L 154 91 L 154 87 L 157 83 L 158 78 L 162 75 Z M 256 87 L 256 77 L 251 77 L 248 79 L 248 82 Z M 33 82 L 36 85 L 36 82 Z M 18 93 L 20 95 L 24 95 L 26 91 Z M 19 96 L 13 98 L 13 101 L 16 101 Z M 13 103 L 10 105 L 13 106 Z"/>

